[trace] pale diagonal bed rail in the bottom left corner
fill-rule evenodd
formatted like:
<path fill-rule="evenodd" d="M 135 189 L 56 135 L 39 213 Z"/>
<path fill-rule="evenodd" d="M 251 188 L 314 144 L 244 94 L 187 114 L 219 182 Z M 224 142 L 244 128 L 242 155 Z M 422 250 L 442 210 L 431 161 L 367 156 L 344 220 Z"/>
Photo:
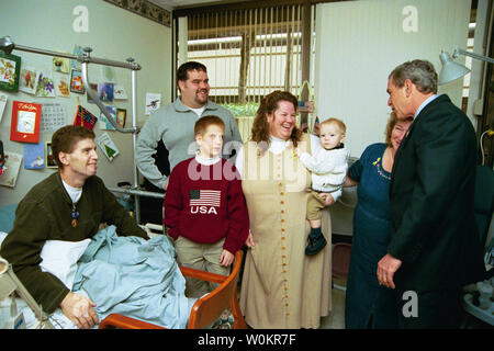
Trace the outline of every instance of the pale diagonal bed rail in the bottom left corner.
<path fill-rule="evenodd" d="M 0 317 L 0 327 L 2 328 L 25 328 L 24 317 L 22 313 L 18 313 L 15 294 L 19 294 L 19 296 L 24 299 L 27 306 L 33 310 L 37 319 L 37 325 L 34 327 L 35 329 L 54 329 L 42 307 L 34 301 L 33 296 L 31 296 L 15 273 L 12 271 L 12 265 L 7 260 L 0 258 L 0 303 L 7 298 L 11 299 L 10 318 L 9 316 L 5 316 L 4 320 L 2 320 Z M 7 313 L 7 315 L 9 313 Z M 3 326 L 1 326 L 1 324 L 3 324 Z"/>

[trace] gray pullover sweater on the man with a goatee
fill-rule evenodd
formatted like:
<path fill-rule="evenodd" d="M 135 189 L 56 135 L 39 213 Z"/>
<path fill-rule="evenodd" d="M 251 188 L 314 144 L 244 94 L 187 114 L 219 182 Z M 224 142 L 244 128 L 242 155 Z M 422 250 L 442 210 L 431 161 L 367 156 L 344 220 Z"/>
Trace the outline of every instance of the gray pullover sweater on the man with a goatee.
<path fill-rule="evenodd" d="M 207 101 L 201 116 L 217 115 L 225 123 L 223 157 L 228 158 L 232 146 L 242 146 L 242 137 L 232 113 Z M 170 171 L 173 167 L 195 155 L 194 124 L 199 120 L 195 112 L 186 106 L 180 99 L 151 113 L 139 132 L 135 145 L 135 160 L 141 173 L 159 189 L 165 189 L 168 178 L 162 176 L 151 157 L 156 154 L 158 141 L 167 148 Z M 238 141 L 238 143 L 231 143 Z"/>

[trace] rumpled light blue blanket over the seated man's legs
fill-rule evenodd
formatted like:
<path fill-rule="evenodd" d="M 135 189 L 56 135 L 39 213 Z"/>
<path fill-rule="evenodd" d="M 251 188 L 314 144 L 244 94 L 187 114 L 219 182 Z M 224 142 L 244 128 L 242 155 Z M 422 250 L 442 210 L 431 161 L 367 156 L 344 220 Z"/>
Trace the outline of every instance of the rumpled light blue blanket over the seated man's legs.
<path fill-rule="evenodd" d="M 82 290 L 98 317 L 112 313 L 166 328 L 186 328 L 195 298 L 184 295 L 186 280 L 166 236 L 149 240 L 100 230 L 78 262 L 72 291 Z"/>

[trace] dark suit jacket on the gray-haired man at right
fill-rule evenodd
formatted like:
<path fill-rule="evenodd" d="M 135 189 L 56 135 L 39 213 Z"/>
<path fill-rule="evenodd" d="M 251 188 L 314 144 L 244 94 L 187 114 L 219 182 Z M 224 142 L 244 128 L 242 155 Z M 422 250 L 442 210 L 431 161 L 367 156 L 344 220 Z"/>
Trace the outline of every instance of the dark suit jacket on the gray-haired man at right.
<path fill-rule="evenodd" d="M 388 252 L 403 261 L 397 288 L 450 290 L 482 280 L 475 169 L 472 123 L 448 95 L 436 98 L 413 122 L 393 165 Z"/>

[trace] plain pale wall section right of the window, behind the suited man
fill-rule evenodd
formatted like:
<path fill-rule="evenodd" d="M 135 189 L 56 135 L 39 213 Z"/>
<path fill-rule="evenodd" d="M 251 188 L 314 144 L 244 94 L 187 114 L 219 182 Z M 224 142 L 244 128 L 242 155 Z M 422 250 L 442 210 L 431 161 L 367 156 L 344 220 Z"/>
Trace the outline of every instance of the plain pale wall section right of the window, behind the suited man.
<path fill-rule="evenodd" d="M 441 49 L 467 46 L 471 0 L 361 0 L 317 4 L 316 114 L 341 118 L 352 157 L 384 141 L 388 75 L 423 58 L 439 72 Z M 323 20 L 324 19 L 324 20 Z M 464 64 L 464 56 L 457 59 Z M 439 86 L 461 107 L 462 80 Z M 473 99 L 472 99 L 473 100 Z M 476 123 L 472 120 L 472 124 Z"/>

